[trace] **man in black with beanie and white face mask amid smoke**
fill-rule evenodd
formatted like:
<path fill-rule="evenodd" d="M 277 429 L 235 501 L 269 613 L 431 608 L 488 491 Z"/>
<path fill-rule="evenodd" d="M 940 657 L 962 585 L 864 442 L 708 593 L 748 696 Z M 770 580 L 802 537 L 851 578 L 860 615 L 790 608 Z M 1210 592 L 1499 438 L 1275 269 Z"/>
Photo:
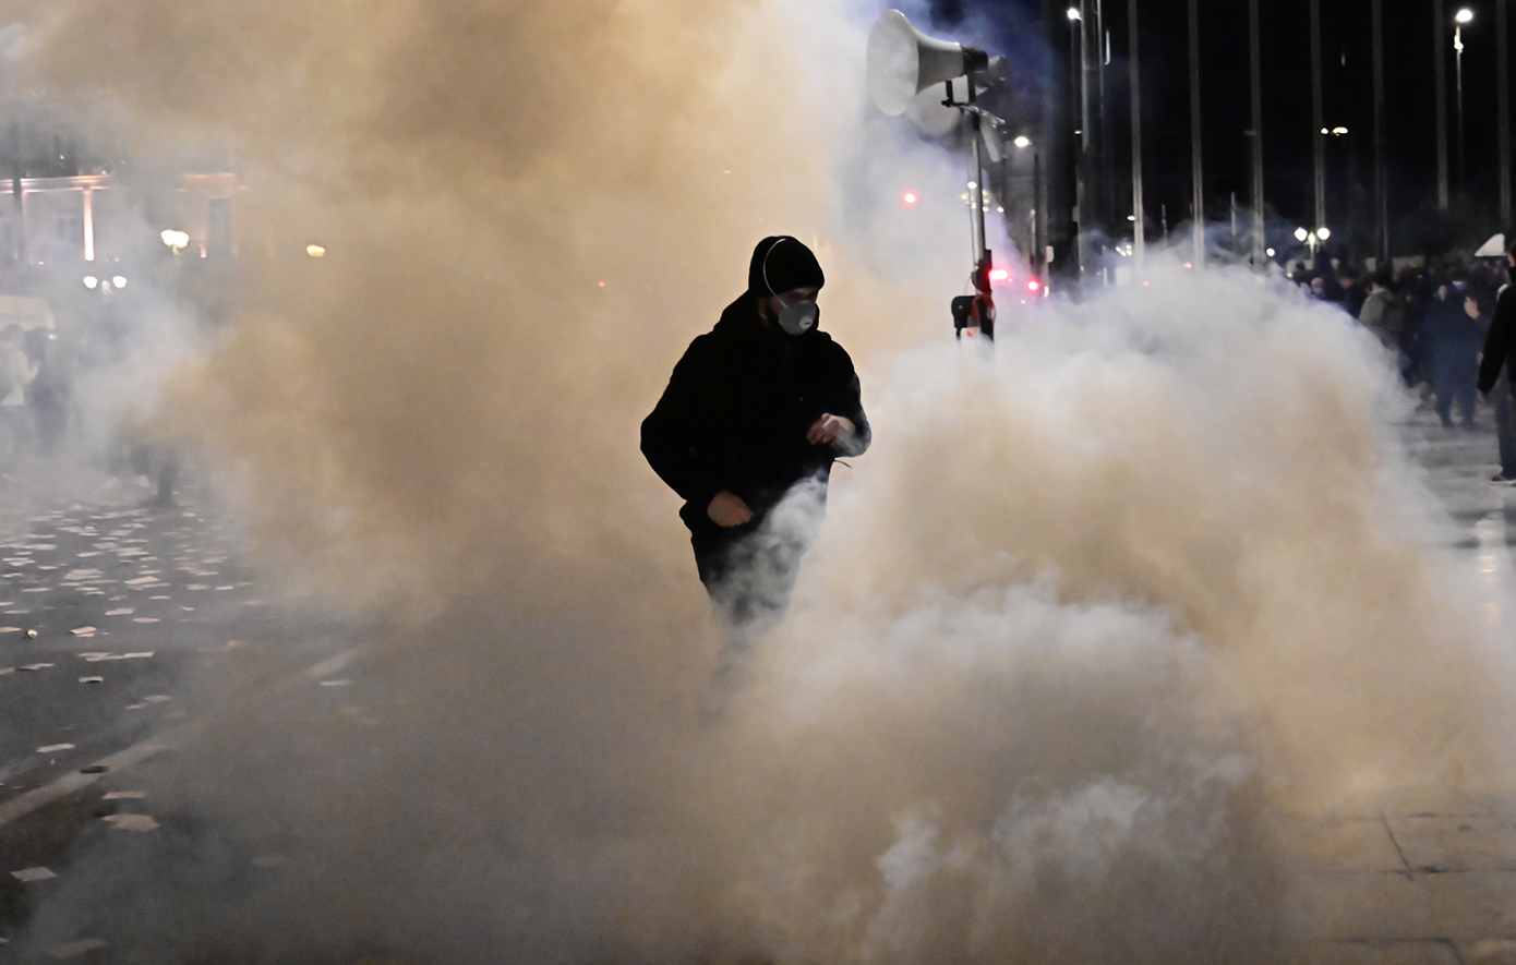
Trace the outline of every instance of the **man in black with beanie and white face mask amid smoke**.
<path fill-rule="evenodd" d="M 643 420 L 643 454 L 685 500 L 700 582 L 744 639 L 788 606 L 832 461 L 869 448 L 852 359 L 817 327 L 825 282 L 802 242 L 760 241 L 747 291 Z"/>

